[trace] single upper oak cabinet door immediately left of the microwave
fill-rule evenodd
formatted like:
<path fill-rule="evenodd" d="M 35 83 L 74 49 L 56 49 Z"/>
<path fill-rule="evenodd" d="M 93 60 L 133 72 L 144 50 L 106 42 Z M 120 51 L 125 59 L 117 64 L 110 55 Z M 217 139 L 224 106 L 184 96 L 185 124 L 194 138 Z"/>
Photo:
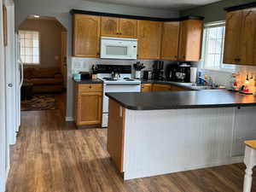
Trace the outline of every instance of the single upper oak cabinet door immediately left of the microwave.
<path fill-rule="evenodd" d="M 92 15 L 73 16 L 73 55 L 98 57 L 101 18 Z"/>

